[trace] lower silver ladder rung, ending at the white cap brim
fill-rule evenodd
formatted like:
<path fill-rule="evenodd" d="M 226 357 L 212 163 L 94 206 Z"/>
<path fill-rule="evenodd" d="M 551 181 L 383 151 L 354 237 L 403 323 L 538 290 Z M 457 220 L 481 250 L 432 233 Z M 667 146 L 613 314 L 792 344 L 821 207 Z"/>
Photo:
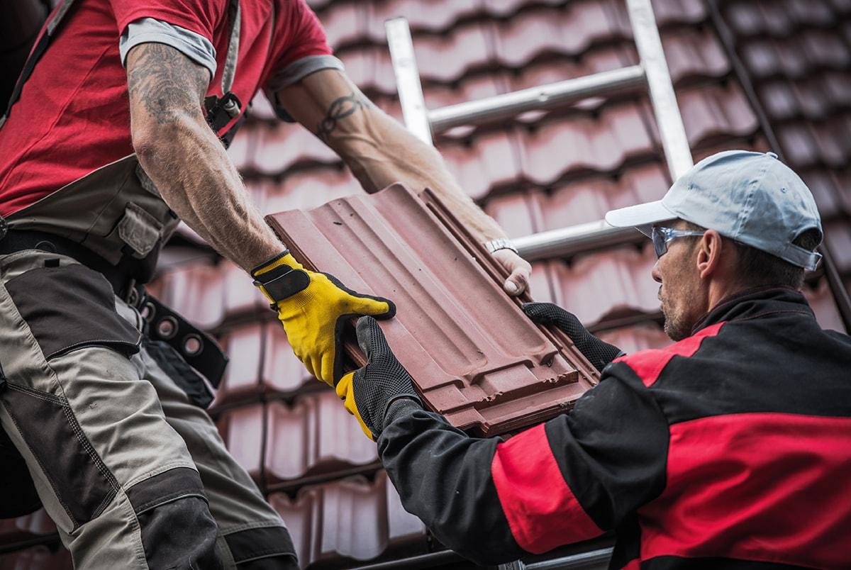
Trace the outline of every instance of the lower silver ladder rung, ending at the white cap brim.
<path fill-rule="evenodd" d="M 608 248 L 634 241 L 638 236 L 635 228 L 616 228 L 601 219 L 559 230 L 541 231 L 511 241 L 517 247 L 520 257 L 532 261 L 566 257 L 589 249 Z"/>

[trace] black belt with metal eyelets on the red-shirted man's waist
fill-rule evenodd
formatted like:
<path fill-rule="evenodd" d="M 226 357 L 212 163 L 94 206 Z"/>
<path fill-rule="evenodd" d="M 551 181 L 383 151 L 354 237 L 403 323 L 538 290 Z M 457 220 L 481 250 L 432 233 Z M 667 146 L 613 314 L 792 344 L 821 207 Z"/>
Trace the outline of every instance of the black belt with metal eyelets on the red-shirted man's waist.
<path fill-rule="evenodd" d="M 119 298 L 140 310 L 147 323 L 144 333 L 149 339 L 162 340 L 170 345 L 214 388 L 219 387 L 228 362 L 219 344 L 208 333 L 192 326 L 168 306 L 146 294 L 145 288 L 137 284 L 123 267 L 112 265 L 77 242 L 44 231 L 9 230 L 0 237 L 0 255 L 24 249 L 67 255 L 105 276 Z"/>

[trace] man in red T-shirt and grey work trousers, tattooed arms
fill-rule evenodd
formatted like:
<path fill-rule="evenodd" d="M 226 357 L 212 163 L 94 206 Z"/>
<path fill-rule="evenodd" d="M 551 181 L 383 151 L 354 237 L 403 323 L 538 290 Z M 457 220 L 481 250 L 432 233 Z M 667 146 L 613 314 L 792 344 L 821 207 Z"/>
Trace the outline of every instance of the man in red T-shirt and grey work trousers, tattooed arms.
<path fill-rule="evenodd" d="M 0 119 L 0 516 L 43 503 L 77 567 L 297 567 L 203 411 L 197 372 L 216 385 L 226 358 L 140 287 L 179 219 L 250 272 L 328 384 L 340 319 L 395 311 L 304 270 L 249 202 L 220 139 L 259 88 L 367 191 L 441 192 L 506 290 L 526 286 L 528 263 L 351 83 L 304 0 L 64 0 Z"/>

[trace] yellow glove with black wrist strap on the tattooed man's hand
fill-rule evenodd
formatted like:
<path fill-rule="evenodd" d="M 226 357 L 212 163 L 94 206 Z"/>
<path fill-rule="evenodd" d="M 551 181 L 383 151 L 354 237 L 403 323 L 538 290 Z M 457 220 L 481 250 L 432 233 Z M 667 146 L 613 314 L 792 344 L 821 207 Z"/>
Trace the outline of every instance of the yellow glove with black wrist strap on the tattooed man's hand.
<path fill-rule="evenodd" d="M 331 387 L 343 375 L 340 335 L 346 320 L 396 315 L 391 300 L 355 293 L 334 276 L 306 270 L 288 250 L 255 267 L 251 276 L 277 310 L 295 356 Z"/>

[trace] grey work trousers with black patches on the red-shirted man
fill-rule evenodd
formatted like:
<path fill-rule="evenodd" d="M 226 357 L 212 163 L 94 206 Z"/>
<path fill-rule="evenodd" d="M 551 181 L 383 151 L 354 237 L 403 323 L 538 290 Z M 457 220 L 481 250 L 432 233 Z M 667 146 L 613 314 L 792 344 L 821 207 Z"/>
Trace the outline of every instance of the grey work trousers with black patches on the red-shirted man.
<path fill-rule="evenodd" d="M 142 325 L 74 259 L 0 256 L 0 422 L 75 567 L 297 568 L 280 516 L 180 388 L 188 367 L 157 358 Z"/>

